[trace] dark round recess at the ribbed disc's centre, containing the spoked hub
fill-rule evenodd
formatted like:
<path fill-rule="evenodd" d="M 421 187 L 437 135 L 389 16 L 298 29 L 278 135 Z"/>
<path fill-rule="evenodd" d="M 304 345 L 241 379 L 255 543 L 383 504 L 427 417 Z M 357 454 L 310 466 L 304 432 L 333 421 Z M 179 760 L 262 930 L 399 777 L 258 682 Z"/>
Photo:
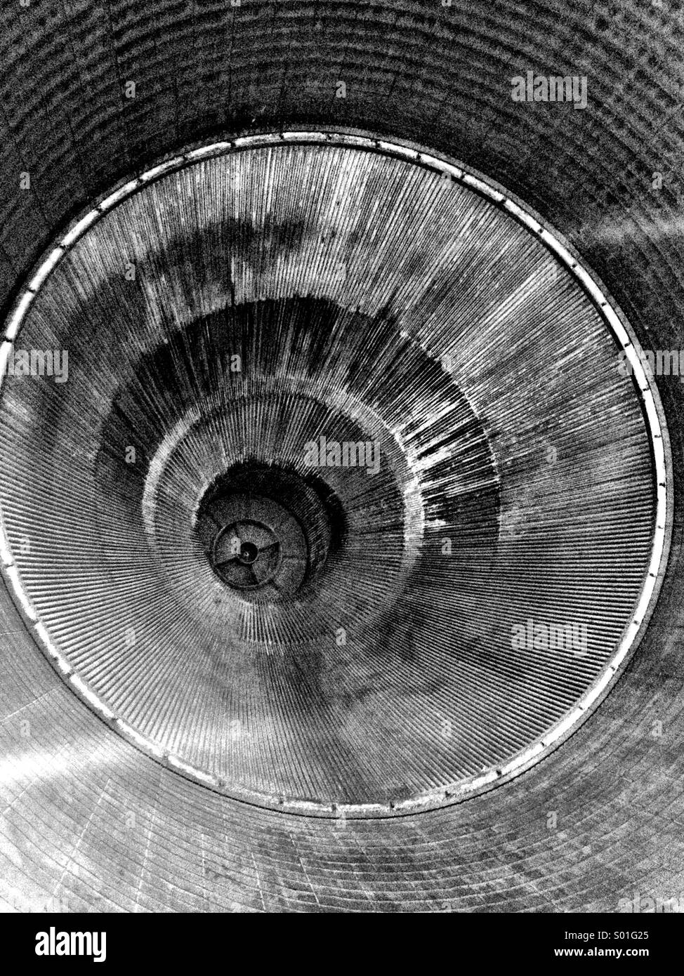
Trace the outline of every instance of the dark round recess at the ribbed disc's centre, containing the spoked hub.
<path fill-rule="evenodd" d="M 195 523 L 209 562 L 230 590 L 251 602 L 295 596 L 342 542 L 336 496 L 316 478 L 248 462 L 218 477 Z"/>

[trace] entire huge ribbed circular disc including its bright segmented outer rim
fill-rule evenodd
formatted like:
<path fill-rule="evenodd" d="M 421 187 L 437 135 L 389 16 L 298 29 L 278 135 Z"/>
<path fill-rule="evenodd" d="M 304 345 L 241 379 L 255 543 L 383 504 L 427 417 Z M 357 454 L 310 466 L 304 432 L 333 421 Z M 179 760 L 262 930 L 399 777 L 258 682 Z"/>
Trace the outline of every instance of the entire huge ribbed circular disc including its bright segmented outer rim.
<path fill-rule="evenodd" d="M 278 134 L 124 184 L 47 261 L 4 355 L 64 350 L 69 383 L 4 378 L 5 573 L 119 732 L 379 816 L 503 781 L 605 690 L 664 555 L 663 435 L 519 202 Z"/>

